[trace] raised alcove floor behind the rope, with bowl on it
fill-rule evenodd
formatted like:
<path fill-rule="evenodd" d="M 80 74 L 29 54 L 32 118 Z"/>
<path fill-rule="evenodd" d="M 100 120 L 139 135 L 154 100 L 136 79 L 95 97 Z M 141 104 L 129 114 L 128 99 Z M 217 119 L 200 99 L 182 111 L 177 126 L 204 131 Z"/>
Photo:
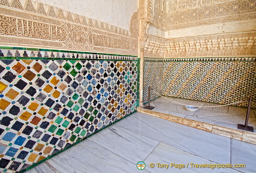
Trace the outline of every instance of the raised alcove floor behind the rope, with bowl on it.
<path fill-rule="evenodd" d="M 178 105 L 171 100 L 186 105 L 196 105 L 203 107 L 199 107 L 196 112 L 188 112 L 185 110 L 183 105 Z M 178 99 L 173 97 L 158 97 L 158 99 L 153 100 L 150 104 L 151 106 L 155 107 L 153 110 L 156 112 L 168 113 L 175 116 L 185 117 L 187 119 L 199 120 L 201 122 L 225 126 L 233 129 L 237 129 L 238 124 L 245 124 L 245 116 L 247 114 L 247 108 L 244 107 L 205 107 L 219 106 L 219 104 Z M 256 109 L 250 110 L 248 126 L 252 126 L 255 129 L 254 133 L 256 133 Z"/>

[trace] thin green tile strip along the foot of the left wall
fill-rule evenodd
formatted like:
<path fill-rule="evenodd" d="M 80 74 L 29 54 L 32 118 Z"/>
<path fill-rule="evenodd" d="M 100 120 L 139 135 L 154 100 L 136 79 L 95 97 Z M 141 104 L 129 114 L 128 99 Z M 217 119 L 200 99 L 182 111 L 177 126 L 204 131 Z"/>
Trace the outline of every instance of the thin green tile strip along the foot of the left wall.
<path fill-rule="evenodd" d="M 136 113 L 136 112 L 137 112 L 137 110 L 135 110 L 133 113 Z M 52 158 L 53 156 L 56 156 L 56 155 L 62 153 L 62 152 L 65 151 L 66 149 L 69 149 L 69 148 L 71 148 L 72 146 L 74 146 L 74 145 L 76 145 L 76 144 L 78 144 L 78 143 L 80 143 L 80 142 L 82 142 L 82 141 L 85 141 L 85 139 L 91 137 L 92 135 L 95 135 L 96 133 L 100 132 L 101 130 L 103 130 L 103 129 L 105 129 L 105 128 L 108 128 L 108 127 L 111 126 L 111 125 L 114 125 L 115 123 L 119 122 L 120 120 L 125 119 L 126 117 L 132 115 L 133 113 L 130 113 L 129 115 L 122 117 L 121 119 L 117 120 L 116 122 L 113 122 L 113 123 L 111 123 L 110 125 L 105 126 L 104 128 L 98 130 L 97 132 L 94 132 L 94 133 L 92 133 L 91 135 L 88 135 L 88 136 L 86 136 L 85 138 L 82 138 L 81 140 L 76 141 L 75 143 L 73 143 L 73 144 L 67 146 L 66 148 L 64 148 L 63 150 L 60 150 L 60 151 L 56 152 L 55 154 L 50 155 L 50 156 L 48 156 L 47 158 L 44 158 L 43 160 L 41 160 L 41 161 L 39 161 L 39 162 L 37 162 L 37 163 L 34 163 L 34 164 L 32 164 L 30 167 L 27 167 L 27 168 L 25 168 L 25 169 L 23 169 L 23 170 L 21 170 L 20 172 L 17 172 L 17 173 L 23 173 L 23 172 L 25 172 L 25 171 L 28 171 L 28 170 L 31 169 L 31 168 L 36 167 L 37 165 L 39 165 L 39 164 L 41 164 L 41 163 L 47 161 L 48 159 Z"/>

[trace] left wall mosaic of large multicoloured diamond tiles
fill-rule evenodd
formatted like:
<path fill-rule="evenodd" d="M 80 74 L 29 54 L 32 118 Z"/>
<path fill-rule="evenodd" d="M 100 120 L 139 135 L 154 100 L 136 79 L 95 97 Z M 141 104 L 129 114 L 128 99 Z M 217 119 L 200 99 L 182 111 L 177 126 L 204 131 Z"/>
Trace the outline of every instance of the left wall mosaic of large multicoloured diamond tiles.
<path fill-rule="evenodd" d="M 0 57 L 0 172 L 28 168 L 136 111 L 137 57 L 28 48 Z"/>

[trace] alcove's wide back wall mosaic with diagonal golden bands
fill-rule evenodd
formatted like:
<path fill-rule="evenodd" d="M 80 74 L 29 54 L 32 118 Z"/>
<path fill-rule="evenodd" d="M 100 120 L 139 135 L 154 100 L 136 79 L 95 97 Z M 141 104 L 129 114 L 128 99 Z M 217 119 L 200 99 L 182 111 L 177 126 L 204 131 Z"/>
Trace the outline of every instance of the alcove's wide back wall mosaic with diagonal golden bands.
<path fill-rule="evenodd" d="M 256 58 L 165 60 L 163 95 L 229 104 L 248 100 L 256 107 Z M 235 106 L 247 107 L 248 101 Z"/>

